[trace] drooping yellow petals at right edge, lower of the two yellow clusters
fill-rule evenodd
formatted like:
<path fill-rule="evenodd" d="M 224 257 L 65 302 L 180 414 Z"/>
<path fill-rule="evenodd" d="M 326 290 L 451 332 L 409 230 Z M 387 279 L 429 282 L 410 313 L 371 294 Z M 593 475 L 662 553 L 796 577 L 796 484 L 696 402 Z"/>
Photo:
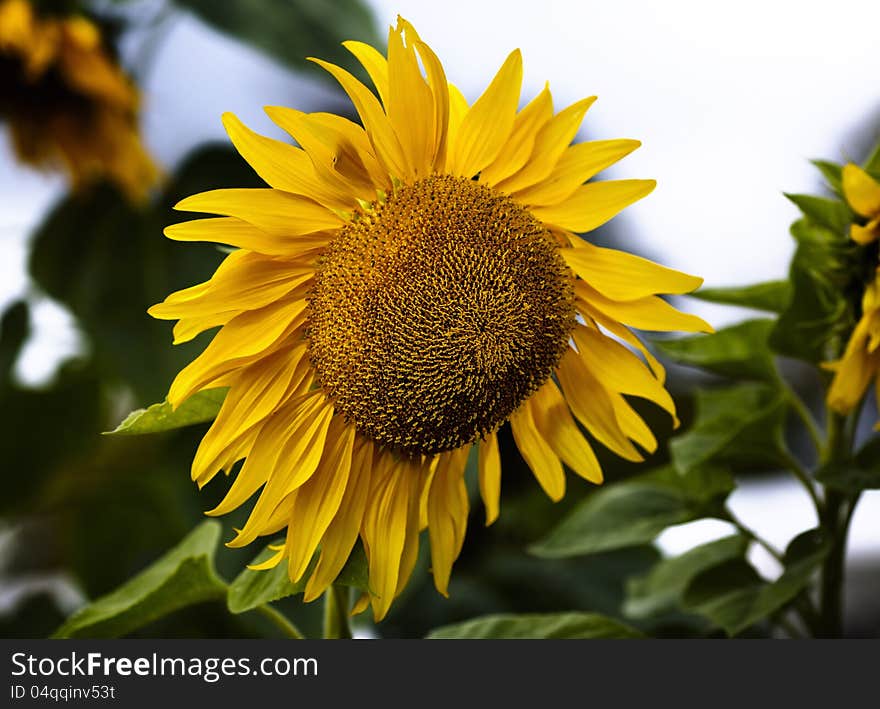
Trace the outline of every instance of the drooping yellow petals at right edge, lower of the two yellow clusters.
<path fill-rule="evenodd" d="M 834 371 L 828 390 L 828 406 L 841 414 L 852 411 L 861 401 L 868 384 L 880 369 L 880 271 L 862 298 L 862 317 L 838 361 L 826 368 Z M 877 381 L 880 401 L 880 380 Z"/>

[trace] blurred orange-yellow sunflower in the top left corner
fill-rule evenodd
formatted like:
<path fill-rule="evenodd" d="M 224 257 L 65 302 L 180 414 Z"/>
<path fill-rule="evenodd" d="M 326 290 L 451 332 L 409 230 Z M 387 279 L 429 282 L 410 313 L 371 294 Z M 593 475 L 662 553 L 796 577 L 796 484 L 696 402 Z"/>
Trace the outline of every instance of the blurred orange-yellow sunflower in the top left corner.
<path fill-rule="evenodd" d="M 74 187 L 104 177 L 142 197 L 158 173 L 137 110 L 138 92 L 96 25 L 0 0 L 0 120 L 22 162 L 61 167 Z"/>

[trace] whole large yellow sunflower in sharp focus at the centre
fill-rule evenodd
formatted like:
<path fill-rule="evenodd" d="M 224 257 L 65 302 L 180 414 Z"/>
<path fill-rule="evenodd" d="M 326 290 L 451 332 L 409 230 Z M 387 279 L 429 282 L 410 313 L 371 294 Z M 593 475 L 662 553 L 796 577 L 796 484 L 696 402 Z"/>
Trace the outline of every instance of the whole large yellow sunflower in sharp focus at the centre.
<path fill-rule="evenodd" d="M 312 600 L 360 538 L 370 590 L 358 608 L 372 603 L 379 620 L 406 584 L 425 528 L 434 584 L 447 594 L 473 448 L 487 524 L 499 514 L 498 429 L 508 421 L 552 500 L 565 493 L 563 465 L 601 482 L 578 422 L 593 441 L 640 461 L 657 442 L 626 397 L 675 417 L 663 367 L 628 326 L 711 328 L 657 296 L 692 291 L 701 279 L 575 236 L 654 187 L 587 182 L 639 146 L 570 144 L 595 97 L 554 113 L 544 88 L 518 111 L 517 50 L 468 105 L 402 19 L 387 57 L 359 42 L 345 47 L 378 96 L 314 61 L 351 97 L 362 126 L 267 108 L 297 147 L 226 114 L 235 147 L 271 187 L 177 205 L 220 216 L 173 225 L 168 237 L 238 248 L 209 281 L 150 313 L 178 320 L 176 342 L 220 328 L 168 400 L 229 388 L 192 466 L 202 486 L 244 461 L 208 513 L 256 495 L 229 546 L 286 528 L 258 568 L 286 560 L 298 580 L 317 552 L 305 590 Z"/>

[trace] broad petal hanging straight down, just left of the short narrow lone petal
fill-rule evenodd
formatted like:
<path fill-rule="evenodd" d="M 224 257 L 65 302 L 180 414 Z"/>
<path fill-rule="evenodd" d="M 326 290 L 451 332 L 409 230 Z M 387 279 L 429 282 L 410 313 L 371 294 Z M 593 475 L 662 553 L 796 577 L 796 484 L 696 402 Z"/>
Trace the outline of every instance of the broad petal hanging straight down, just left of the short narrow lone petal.
<path fill-rule="evenodd" d="M 428 494 L 428 534 L 434 586 L 448 594 L 452 564 L 461 552 L 468 515 L 464 469 L 469 446 L 440 455 Z"/>

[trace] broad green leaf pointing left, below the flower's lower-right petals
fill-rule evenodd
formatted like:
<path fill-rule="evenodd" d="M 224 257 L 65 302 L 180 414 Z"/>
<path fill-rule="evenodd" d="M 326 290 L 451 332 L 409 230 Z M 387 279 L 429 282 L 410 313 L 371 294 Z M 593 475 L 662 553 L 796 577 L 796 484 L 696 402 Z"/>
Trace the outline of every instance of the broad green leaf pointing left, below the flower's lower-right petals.
<path fill-rule="evenodd" d="M 726 471 L 679 475 L 666 466 L 592 493 L 529 551 L 558 558 L 645 544 L 667 527 L 713 514 L 732 489 Z"/>

